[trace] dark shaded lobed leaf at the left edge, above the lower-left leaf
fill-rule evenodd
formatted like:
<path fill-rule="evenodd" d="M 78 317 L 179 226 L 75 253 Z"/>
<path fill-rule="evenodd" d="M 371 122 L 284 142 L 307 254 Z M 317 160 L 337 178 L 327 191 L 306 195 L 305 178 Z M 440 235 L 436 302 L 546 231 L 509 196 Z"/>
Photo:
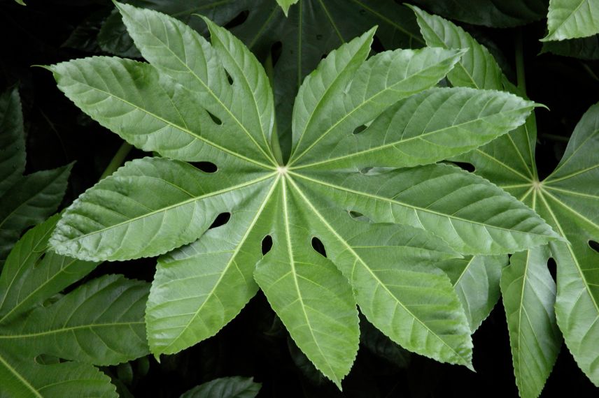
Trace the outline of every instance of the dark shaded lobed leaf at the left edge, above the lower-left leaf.
<path fill-rule="evenodd" d="M 25 229 L 56 211 L 71 165 L 23 176 L 25 140 L 19 91 L 0 95 L 0 270 Z"/>

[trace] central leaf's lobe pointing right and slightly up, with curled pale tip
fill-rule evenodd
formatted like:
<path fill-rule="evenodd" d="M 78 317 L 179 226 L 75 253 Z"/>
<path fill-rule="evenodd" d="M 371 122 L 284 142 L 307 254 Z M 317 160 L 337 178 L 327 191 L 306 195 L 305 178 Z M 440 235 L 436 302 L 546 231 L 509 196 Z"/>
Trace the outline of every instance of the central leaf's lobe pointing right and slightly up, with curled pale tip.
<path fill-rule="evenodd" d="M 363 132 L 346 130 L 334 145 L 318 147 L 319 161 L 296 168 L 361 170 L 435 163 L 511 131 L 534 105 L 499 91 L 429 89 L 390 106 Z"/>

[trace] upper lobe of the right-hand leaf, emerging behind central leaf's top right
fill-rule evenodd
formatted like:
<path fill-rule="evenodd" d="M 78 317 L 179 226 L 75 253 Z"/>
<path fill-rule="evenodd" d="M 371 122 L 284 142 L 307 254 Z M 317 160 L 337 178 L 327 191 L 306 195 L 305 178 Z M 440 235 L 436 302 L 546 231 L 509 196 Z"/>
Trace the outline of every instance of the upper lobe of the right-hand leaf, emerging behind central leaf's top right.
<path fill-rule="evenodd" d="M 458 65 L 447 75 L 454 86 L 475 89 L 503 89 L 501 68 L 490 52 L 470 34 L 437 15 L 410 6 L 420 26 L 426 45 L 448 49 L 466 49 Z"/>

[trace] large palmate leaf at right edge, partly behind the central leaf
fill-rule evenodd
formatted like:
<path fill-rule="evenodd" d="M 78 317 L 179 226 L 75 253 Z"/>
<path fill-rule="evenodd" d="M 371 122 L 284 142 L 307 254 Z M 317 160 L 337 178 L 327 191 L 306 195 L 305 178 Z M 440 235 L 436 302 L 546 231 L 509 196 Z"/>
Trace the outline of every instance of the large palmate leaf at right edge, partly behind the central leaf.
<path fill-rule="evenodd" d="M 464 47 L 448 31 L 458 27 L 439 17 L 416 10 L 427 40 L 444 37 L 444 47 Z M 462 36 L 463 37 L 463 36 Z M 472 38 L 467 40 L 470 52 L 481 59 L 472 65 L 489 64 L 490 56 Z M 456 66 L 457 68 L 457 66 Z M 454 68 L 455 70 L 455 68 Z M 476 78 L 476 68 L 463 63 L 474 79 L 470 87 L 498 88 L 507 80 L 488 81 Z M 463 79 L 449 79 L 463 84 Z M 549 376 L 561 345 L 561 337 L 581 369 L 599 383 L 599 353 L 591 348 L 597 339 L 599 325 L 599 293 L 596 285 L 598 253 L 589 242 L 599 240 L 596 208 L 598 206 L 598 132 L 599 106 L 594 105 L 579 122 L 558 168 L 540 182 L 535 166 L 537 128 L 534 116 L 526 124 L 507 135 L 456 156 L 456 160 L 472 163 L 475 172 L 505 189 L 535 209 L 554 226 L 568 242 L 551 243 L 551 256 L 558 264 L 557 297 L 554 281 L 547 270 L 547 248 L 534 249 L 512 256 L 511 265 L 502 276 L 502 293 L 514 354 L 514 372 L 522 397 L 537 397 Z M 553 307 L 555 304 L 555 314 Z"/>

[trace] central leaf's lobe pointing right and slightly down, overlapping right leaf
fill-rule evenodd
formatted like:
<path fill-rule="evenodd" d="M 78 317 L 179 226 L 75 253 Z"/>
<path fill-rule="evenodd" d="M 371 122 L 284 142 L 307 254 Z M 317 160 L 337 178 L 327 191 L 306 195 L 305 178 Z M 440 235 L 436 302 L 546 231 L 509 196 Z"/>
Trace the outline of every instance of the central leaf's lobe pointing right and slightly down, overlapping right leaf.
<path fill-rule="evenodd" d="M 377 172 L 293 172 L 311 196 L 325 195 L 376 222 L 423 228 L 465 254 L 546 244 L 556 233 L 521 202 L 451 165 Z"/>

